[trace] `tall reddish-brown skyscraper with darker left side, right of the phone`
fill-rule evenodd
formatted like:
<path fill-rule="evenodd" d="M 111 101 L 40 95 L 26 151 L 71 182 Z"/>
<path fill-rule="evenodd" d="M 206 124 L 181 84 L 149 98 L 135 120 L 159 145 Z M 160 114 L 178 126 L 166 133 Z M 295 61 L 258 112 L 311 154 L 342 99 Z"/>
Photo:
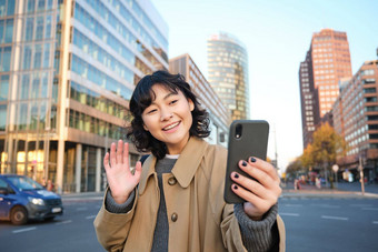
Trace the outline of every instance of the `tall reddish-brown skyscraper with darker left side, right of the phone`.
<path fill-rule="evenodd" d="M 332 29 L 315 32 L 306 60 L 299 69 L 305 148 L 311 141 L 315 127 L 330 112 L 339 95 L 339 80 L 350 77 L 347 33 Z M 310 104 L 310 100 L 315 104 Z"/>

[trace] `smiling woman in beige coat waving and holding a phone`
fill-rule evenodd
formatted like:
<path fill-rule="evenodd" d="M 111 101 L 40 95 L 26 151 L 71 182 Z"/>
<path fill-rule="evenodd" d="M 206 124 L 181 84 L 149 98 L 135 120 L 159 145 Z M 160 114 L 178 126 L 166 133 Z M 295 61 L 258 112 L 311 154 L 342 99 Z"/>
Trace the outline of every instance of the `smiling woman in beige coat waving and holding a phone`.
<path fill-rule="evenodd" d="M 105 249 L 285 250 L 275 169 L 253 157 L 240 160 L 240 169 L 258 182 L 232 173 L 232 191 L 246 203 L 225 203 L 227 150 L 202 140 L 209 135 L 208 114 L 182 75 L 157 71 L 142 78 L 130 111 L 128 137 L 151 154 L 132 173 L 129 145 L 120 140 L 103 159 L 109 188 L 94 226 Z"/>

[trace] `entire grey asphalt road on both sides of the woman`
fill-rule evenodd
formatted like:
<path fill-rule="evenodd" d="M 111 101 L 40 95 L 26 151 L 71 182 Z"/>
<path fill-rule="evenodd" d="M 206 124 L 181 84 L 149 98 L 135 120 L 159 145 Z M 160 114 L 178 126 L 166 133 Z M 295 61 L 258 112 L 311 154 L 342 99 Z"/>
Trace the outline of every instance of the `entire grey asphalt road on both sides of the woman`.
<path fill-rule="evenodd" d="M 16 226 L 0 222 L 0 251 L 103 251 L 93 219 L 101 200 L 66 199 L 51 222 Z M 377 251 L 378 200 L 281 198 L 287 251 Z"/>

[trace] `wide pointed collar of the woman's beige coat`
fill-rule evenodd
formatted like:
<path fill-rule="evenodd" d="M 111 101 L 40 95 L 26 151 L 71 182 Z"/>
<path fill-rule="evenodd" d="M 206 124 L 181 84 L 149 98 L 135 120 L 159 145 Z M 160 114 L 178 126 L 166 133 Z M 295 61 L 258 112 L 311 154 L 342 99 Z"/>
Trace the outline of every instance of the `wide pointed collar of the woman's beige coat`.
<path fill-rule="evenodd" d="M 196 171 L 205 155 L 208 143 L 196 137 L 191 137 L 177 160 L 172 174 L 182 188 L 188 188 L 193 179 Z M 139 194 L 145 192 L 150 175 L 155 174 L 157 159 L 155 155 L 148 157 L 143 164 L 142 174 L 139 183 Z"/>

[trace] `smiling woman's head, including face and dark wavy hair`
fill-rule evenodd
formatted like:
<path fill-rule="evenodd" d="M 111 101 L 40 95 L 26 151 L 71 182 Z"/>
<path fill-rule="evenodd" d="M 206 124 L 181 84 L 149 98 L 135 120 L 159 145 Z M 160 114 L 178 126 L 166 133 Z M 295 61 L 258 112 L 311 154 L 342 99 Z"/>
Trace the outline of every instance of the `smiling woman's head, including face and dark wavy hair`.
<path fill-rule="evenodd" d="M 135 120 L 128 137 L 139 151 L 151 151 L 158 159 L 162 159 L 167 151 L 169 153 L 170 141 L 173 145 L 178 142 L 185 144 L 189 135 L 206 138 L 210 134 L 208 113 L 200 108 L 197 97 L 180 74 L 158 71 L 141 79 L 133 91 L 130 111 Z M 178 125 L 171 129 L 175 123 Z"/>

